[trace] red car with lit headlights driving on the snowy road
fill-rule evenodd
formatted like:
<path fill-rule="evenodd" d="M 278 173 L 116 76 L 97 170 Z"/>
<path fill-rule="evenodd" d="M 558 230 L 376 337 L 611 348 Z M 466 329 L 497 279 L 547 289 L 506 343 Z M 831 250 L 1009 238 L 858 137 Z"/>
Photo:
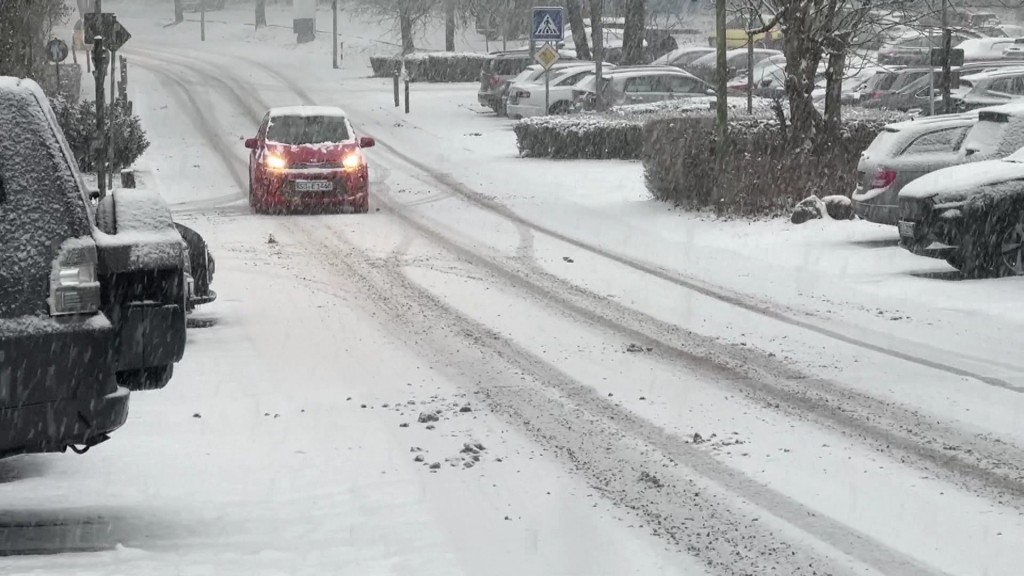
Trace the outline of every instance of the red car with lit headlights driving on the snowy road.
<path fill-rule="evenodd" d="M 271 109 L 249 155 L 249 205 L 257 213 L 292 210 L 370 210 L 370 181 L 361 149 L 344 111 L 328 107 Z"/>

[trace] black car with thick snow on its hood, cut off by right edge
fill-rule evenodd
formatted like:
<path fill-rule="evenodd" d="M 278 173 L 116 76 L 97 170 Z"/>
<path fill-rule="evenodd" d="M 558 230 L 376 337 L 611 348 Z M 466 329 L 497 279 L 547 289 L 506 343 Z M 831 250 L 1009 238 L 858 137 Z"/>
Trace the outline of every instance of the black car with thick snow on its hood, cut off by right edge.
<path fill-rule="evenodd" d="M 944 258 L 968 276 L 1024 272 L 1017 238 L 1024 216 L 1022 135 L 1024 106 L 978 111 L 978 123 L 962 147 L 965 163 L 926 174 L 900 191 L 900 245 Z M 980 158 L 987 160 L 972 161 Z"/>

